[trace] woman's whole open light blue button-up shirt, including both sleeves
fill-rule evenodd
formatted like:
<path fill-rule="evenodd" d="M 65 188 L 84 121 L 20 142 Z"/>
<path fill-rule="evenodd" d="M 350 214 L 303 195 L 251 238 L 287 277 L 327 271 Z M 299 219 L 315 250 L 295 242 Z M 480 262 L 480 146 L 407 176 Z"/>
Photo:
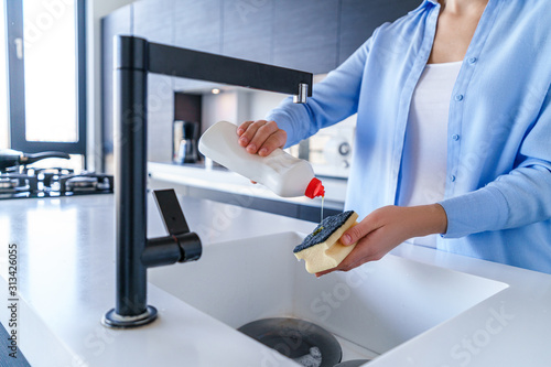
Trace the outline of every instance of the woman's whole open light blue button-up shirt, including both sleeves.
<path fill-rule="evenodd" d="M 396 204 L 413 89 L 440 6 L 424 1 L 378 28 L 305 105 L 268 118 L 288 144 L 357 115 L 346 207 Z M 551 1 L 489 0 L 450 100 L 437 248 L 551 273 Z"/>

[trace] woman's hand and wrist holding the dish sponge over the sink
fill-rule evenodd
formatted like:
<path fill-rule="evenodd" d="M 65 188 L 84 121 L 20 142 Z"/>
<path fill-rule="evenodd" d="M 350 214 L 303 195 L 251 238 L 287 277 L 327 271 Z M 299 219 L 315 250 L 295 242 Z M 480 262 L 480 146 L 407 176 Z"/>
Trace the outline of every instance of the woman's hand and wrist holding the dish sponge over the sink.
<path fill-rule="evenodd" d="M 348 271 L 365 262 L 380 260 L 407 239 L 445 234 L 446 228 L 447 217 L 440 204 L 383 206 L 343 234 L 343 245 L 358 244 L 336 268 L 317 272 L 316 277 L 335 270 Z"/>

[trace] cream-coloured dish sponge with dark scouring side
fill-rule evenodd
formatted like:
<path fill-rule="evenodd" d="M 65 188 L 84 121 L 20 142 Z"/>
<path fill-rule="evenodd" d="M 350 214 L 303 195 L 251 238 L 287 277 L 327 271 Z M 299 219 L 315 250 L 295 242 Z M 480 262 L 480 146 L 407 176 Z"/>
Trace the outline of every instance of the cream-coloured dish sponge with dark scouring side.
<path fill-rule="evenodd" d="M 356 244 L 344 246 L 338 240 L 348 228 L 358 223 L 358 215 L 348 211 L 326 217 L 293 250 L 296 259 L 306 261 L 306 271 L 315 273 L 335 268 L 350 253 Z"/>

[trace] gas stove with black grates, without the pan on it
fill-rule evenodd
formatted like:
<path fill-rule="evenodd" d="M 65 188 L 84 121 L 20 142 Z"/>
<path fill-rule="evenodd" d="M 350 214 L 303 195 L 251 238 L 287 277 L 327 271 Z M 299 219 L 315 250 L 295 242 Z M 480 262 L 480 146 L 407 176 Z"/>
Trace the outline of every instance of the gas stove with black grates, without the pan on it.
<path fill-rule="evenodd" d="M 57 197 L 114 192 L 112 175 L 69 169 L 30 169 L 0 172 L 0 199 Z"/>

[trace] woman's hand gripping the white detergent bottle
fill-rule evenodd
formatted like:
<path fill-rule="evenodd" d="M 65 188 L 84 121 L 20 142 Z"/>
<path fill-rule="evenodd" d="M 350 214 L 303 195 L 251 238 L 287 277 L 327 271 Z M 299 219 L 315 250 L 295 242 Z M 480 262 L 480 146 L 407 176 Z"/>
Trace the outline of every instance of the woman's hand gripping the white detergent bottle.
<path fill-rule="evenodd" d="M 283 148 L 287 142 L 287 132 L 278 128 L 276 121 L 245 121 L 237 128 L 237 134 L 239 145 L 260 156 L 270 154 L 277 148 Z"/>

